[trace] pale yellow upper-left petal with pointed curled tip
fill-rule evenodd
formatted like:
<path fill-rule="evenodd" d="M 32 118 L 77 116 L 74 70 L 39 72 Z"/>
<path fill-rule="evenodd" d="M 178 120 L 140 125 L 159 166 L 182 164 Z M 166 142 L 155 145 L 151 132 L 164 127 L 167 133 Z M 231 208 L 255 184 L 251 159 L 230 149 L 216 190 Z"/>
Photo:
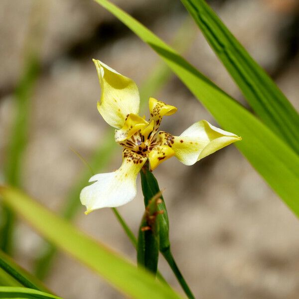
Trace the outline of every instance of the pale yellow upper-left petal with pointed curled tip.
<path fill-rule="evenodd" d="M 102 89 L 98 110 L 112 127 L 121 129 L 126 117 L 139 112 L 139 92 L 135 82 L 100 60 L 93 59 Z"/>

